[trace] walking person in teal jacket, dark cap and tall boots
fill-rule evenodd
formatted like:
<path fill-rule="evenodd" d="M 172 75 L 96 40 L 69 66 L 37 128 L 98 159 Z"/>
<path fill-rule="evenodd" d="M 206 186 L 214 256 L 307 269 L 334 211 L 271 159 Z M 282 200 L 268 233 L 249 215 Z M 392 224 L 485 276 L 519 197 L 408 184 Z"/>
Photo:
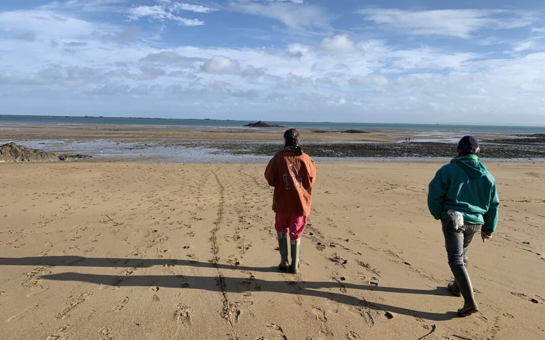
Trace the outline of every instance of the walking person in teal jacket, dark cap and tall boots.
<path fill-rule="evenodd" d="M 458 156 L 444 165 L 429 183 L 428 208 L 441 220 L 445 248 L 454 281 L 449 290 L 464 297 L 460 316 L 479 311 L 469 279 L 468 248 L 474 234 L 483 242 L 492 238 L 498 224 L 499 199 L 494 177 L 479 160 L 479 141 L 471 136 L 460 139 Z"/>

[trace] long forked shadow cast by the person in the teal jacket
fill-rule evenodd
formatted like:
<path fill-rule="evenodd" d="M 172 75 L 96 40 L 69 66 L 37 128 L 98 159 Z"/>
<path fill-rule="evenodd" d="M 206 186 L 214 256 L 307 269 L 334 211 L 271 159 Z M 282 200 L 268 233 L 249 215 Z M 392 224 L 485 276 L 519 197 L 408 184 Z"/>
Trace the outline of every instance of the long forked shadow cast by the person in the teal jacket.
<path fill-rule="evenodd" d="M 179 289 L 202 289 L 218 292 L 217 278 L 214 276 L 182 276 L 182 275 L 130 275 L 130 276 L 117 276 L 117 275 L 95 275 L 95 274 L 81 274 L 81 273 L 61 273 L 42 275 L 41 279 L 45 280 L 58 280 L 58 281 L 83 281 L 96 283 L 101 285 L 110 286 L 142 286 L 142 287 L 167 287 L 167 288 L 179 288 Z M 151 280 L 151 281 L 150 281 Z M 239 277 L 224 277 L 225 291 L 227 293 L 244 293 L 244 292 L 275 292 L 284 294 L 301 294 L 308 296 L 316 296 L 317 298 L 330 299 L 340 302 L 341 304 L 368 307 L 374 310 L 387 311 L 397 314 L 404 314 L 407 316 L 420 317 L 422 319 L 443 321 L 450 320 L 458 317 L 456 312 L 446 313 L 431 313 L 411 310 L 410 308 L 396 307 L 385 304 L 379 304 L 378 302 L 370 302 L 365 299 L 356 298 L 348 294 L 340 294 L 334 292 L 324 292 L 322 290 L 316 290 L 320 288 L 339 288 L 340 284 L 337 282 L 288 282 L 288 281 L 265 281 L 260 279 L 244 279 Z M 434 294 L 438 291 L 435 290 L 420 290 L 420 289 L 403 289 L 403 288 L 391 288 L 391 287 L 371 287 L 364 285 L 354 285 L 352 283 L 342 283 L 346 288 L 353 289 L 366 289 L 366 290 L 380 290 L 383 292 L 396 292 L 396 293 L 416 293 L 416 294 Z M 251 287 L 253 287 L 251 289 Z"/>

